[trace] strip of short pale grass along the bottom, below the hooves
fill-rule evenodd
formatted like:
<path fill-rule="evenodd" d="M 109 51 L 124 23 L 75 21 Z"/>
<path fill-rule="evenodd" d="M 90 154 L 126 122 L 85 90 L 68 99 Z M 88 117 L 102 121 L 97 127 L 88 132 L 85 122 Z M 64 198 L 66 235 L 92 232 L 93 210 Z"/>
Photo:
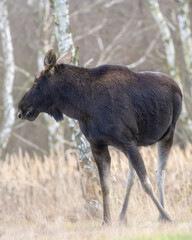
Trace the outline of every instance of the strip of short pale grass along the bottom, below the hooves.
<path fill-rule="evenodd" d="M 161 226 L 155 223 L 147 223 L 143 226 L 122 227 L 113 225 L 101 228 L 100 224 L 83 221 L 83 223 L 64 224 L 27 224 L 17 223 L 13 226 L 4 226 L 1 231 L 1 239 L 95 239 L 95 240 L 191 240 L 190 227 L 174 223 L 172 226 Z"/>

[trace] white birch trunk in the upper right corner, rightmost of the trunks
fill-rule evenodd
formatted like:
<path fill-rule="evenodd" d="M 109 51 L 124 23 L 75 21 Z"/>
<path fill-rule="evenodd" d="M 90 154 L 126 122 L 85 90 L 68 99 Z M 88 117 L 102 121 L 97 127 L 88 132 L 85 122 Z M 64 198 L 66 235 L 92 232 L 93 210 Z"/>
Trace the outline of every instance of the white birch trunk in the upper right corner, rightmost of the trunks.
<path fill-rule="evenodd" d="M 177 19 L 180 39 L 183 48 L 183 57 L 188 72 L 192 94 L 192 32 L 189 18 L 189 0 L 176 0 Z"/>

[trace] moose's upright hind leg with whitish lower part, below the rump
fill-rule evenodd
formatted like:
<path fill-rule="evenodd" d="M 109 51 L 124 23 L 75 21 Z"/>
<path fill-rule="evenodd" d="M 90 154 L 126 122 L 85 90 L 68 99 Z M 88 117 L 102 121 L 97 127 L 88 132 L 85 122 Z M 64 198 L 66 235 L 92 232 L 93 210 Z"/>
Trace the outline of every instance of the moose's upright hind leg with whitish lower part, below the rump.
<path fill-rule="evenodd" d="M 159 193 L 159 201 L 164 207 L 164 178 L 165 167 L 168 161 L 169 153 L 173 143 L 174 127 L 171 127 L 167 135 L 157 144 L 158 147 L 158 168 L 156 173 L 156 181 Z M 161 216 L 159 216 L 159 220 Z"/>

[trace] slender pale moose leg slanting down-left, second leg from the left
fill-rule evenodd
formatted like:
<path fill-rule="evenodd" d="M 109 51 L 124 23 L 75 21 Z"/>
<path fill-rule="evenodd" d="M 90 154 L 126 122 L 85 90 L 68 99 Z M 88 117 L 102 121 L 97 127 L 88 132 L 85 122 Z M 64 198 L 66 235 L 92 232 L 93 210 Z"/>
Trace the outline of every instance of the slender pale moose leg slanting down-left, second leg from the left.
<path fill-rule="evenodd" d="M 126 222 L 127 206 L 128 206 L 128 202 L 129 202 L 131 188 L 132 188 L 133 183 L 134 183 L 134 175 L 135 175 L 135 170 L 134 170 L 132 164 L 129 162 L 128 182 L 127 182 L 125 200 L 124 200 L 124 203 L 123 203 L 121 214 L 119 216 L 119 221 L 121 223 Z"/>

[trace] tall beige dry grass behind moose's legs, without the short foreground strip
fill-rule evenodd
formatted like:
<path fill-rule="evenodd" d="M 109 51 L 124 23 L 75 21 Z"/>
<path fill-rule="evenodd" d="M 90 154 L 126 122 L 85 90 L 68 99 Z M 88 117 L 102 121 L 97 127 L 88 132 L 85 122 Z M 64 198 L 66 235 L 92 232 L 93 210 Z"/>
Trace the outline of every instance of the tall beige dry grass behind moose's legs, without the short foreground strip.
<path fill-rule="evenodd" d="M 156 148 L 140 150 L 154 186 L 157 167 Z M 114 149 L 111 170 L 111 212 L 116 221 L 126 190 L 127 158 Z M 17 222 L 40 226 L 59 221 L 77 224 L 89 221 L 99 225 L 102 219 L 102 196 L 95 165 L 93 171 L 82 168 L 74 150 L 66 160 L 50 155 L 44 160 L 20 150 L 0 161 L 0 221 L 10 226 Z M 192 219 L 192 146 L 183 151 L 174 146 L 165 177 L 165 203 L 172 219 Z M 136 178 L 128 206 L 128 226 L 156 222 L 158 212 Z M 1 224 L 0 224 L 1 225 Z M 3 232 L 1 225 L 0 236 Z M 74 225 L 75 226 L 75 225 Z M 71 227 L 69 227 L 71 228 Z M 137 228 L 135 228 L 137 229 Z M 14 239 L 14 238 L 13 238 Z"/>

